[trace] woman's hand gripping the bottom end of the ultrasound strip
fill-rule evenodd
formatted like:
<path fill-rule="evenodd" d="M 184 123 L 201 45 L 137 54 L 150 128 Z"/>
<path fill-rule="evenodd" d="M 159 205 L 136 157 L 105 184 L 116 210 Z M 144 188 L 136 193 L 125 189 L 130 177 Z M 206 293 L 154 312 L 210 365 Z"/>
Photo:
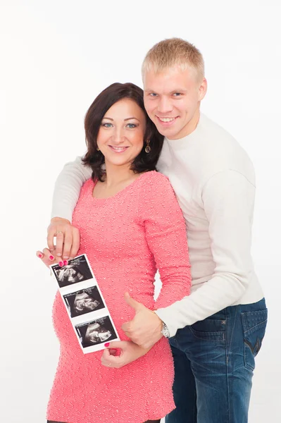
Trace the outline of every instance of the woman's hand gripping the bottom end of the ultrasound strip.
<path fill-rule="evenodd" d="M 105 344 L 106 350 L 101 357 L 101 364 L 120 369 L 149 352 L 151 348 L 142 348 L 132 341 L 114 341 Z"/>

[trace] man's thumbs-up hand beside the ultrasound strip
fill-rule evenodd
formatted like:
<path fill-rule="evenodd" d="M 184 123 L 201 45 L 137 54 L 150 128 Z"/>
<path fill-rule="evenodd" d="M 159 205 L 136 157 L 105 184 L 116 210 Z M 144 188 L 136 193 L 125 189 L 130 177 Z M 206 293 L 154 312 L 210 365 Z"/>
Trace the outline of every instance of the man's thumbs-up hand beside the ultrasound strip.
<path fill-rule="evenodd" d="M 156 313 L 146 308 L 141 302 L 137 302 L 125 293 L 128 305 L 135 309 L 135 317 L 122 325 L 122 329 L 128 338 L 142 348 L 151 348 L 162 338 L 163 322 Z"/>

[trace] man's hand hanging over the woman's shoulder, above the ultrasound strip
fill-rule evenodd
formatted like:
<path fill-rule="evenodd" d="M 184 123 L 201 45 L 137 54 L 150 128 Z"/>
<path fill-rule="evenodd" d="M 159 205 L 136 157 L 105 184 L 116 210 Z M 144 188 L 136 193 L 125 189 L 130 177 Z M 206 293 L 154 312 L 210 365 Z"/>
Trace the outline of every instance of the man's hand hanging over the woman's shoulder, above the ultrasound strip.
<path fill-rule="evenodd" d="M 48 227 L 47 243 L 49 250 L 54 251 L 56 237 L 56 256 L 64 260 L 74 259 L 80 246 L 80 234 L 77 228 L 67 219 L 54 217 Z"/>

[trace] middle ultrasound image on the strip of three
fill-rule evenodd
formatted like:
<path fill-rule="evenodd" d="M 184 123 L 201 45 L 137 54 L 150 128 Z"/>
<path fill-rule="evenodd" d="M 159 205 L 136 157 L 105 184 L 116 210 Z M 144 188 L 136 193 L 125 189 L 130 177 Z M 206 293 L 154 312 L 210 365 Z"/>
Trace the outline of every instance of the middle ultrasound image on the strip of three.
<path fill-rule="evenodd" d="M 97 286 L 63 295 L 63 299 L 68 307 L 70 317 L 81 316 L 82 314 L 96 312 L 105 308 Z"/>

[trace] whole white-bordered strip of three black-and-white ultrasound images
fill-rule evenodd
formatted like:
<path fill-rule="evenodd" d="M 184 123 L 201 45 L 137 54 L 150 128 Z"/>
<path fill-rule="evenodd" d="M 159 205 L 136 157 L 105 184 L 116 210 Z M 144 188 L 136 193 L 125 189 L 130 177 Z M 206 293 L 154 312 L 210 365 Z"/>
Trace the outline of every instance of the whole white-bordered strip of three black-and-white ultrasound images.
<path fill-rule="evenodd" d="M 75 257 L 67 266 L 51 264 L 50 268 L 83 353 L 104 350 L 108 341 L 120 341 L 87 255 Z"/>

